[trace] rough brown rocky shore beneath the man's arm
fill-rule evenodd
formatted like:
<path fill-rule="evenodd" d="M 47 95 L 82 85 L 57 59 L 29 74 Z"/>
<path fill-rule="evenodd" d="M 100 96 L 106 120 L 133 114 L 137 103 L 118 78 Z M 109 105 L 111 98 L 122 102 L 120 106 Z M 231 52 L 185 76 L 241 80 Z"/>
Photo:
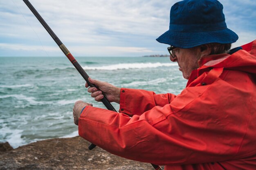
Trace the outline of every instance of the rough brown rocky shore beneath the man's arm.
<path fill-rule="evenodd" d="M 80 142 L 80 143 L 79 143 Z M 0 170 L 153 170 L 150 163 L 131 161 L 96 147 L 81 137 L 55 138 L 16 149 L 0 144 Z"/>

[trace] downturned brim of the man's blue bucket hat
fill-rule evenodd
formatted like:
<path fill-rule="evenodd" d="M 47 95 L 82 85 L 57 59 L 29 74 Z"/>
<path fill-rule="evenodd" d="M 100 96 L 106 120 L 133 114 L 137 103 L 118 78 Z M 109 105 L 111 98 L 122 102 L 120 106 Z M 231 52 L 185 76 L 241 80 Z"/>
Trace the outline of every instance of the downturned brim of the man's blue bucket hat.
<path fill-rule="evenodd" d="M 216 31 L 171 31 L 168 30 L 156 39 L 159 43 L 169 44 L 178 48 L 192 48 L 202 44 L 229 44 L 238 40 L 238 35 L 228 28 Z"/>

